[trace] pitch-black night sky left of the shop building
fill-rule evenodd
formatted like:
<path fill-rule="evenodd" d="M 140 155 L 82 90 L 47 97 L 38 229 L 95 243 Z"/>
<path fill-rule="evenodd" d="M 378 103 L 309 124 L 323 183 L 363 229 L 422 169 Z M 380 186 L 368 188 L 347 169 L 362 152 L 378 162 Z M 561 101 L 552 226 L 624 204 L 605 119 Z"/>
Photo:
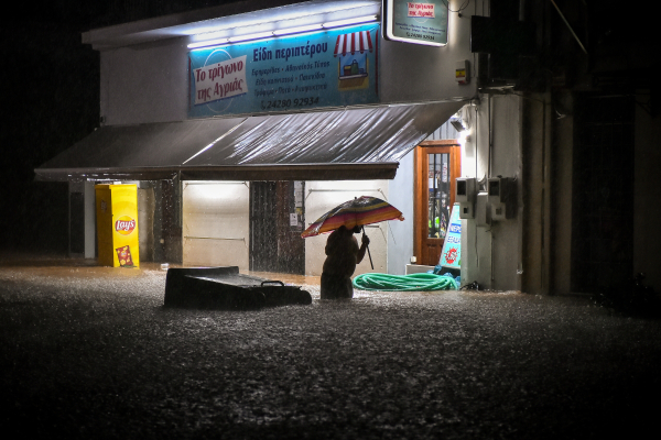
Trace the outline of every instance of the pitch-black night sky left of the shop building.
<path fill-rule="evenodd" d="M 82 33 L 225 2 L 37 0 L 3 14 L 0 251 L 67 250 L 67 184 L 33 169 L 99 127 L 99 53 Z"/>

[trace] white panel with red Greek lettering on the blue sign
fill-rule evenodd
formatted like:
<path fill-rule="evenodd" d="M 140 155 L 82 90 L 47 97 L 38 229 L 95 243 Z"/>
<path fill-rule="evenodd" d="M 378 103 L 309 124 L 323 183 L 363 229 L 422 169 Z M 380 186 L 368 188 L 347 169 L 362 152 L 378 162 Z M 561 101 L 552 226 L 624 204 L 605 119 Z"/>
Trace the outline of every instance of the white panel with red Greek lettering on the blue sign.
<path fill-rule="evenodd" d="M 246 55 L 196 68 L 193 78 L 196 105 L 247 94 Z"/>

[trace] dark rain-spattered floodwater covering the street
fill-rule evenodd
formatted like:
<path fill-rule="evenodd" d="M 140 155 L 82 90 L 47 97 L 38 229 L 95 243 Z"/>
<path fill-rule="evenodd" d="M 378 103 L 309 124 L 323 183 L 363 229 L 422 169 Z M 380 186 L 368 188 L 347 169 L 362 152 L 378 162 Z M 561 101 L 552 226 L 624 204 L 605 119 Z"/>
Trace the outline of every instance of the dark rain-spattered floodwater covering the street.
<path fill-rule="evenodd" d="M 267 276 L 270 274 L 252 275 Z M 585 296 L 163 308 L 165 271 L 0 255 L 3 438 L 654 436 L 661 324 Z"/>

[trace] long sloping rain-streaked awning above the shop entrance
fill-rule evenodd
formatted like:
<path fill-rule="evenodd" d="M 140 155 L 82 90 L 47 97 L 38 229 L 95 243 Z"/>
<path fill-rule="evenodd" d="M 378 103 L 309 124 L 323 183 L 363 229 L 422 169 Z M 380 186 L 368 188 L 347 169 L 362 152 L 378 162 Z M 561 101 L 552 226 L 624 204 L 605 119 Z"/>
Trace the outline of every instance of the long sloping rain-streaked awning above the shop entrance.
<path fill-rule="evenodd" d="M 463 102 L 108 125 L 34 172 L 40 180 L 393 178 Z"/>

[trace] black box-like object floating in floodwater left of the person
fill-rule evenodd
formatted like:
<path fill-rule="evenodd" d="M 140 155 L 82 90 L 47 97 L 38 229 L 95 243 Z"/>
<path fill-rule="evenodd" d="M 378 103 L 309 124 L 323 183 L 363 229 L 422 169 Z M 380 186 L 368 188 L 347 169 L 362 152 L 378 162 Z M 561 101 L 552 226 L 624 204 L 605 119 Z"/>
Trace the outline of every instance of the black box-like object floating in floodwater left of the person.
<path fill-rule="evenodd" d="M 256 310 L 312 304 L 308 292 L 279 280 L 239 274 L 238 266 L 169 268 L 165 307 Z"/>

